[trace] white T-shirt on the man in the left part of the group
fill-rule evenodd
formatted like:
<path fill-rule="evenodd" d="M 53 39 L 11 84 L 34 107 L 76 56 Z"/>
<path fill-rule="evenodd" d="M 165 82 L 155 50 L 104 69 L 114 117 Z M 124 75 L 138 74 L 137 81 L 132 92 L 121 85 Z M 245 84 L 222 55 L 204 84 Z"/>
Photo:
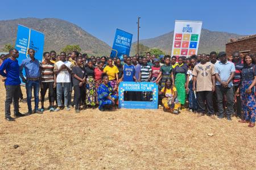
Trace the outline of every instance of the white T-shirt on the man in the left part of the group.
<path fill-rule="evenodd" d="M 69 69 L 72 69 L 72 63 L 69 61 L 58 61 L 54 65 L 54 69 L 60 69 L 62 65 L 66 65 Z M 56 76 L 56 83 L 70 83 L 71 82 L 71 74 L 68 73 L 67 69 L 61 70 L 60 73 Z"/>

